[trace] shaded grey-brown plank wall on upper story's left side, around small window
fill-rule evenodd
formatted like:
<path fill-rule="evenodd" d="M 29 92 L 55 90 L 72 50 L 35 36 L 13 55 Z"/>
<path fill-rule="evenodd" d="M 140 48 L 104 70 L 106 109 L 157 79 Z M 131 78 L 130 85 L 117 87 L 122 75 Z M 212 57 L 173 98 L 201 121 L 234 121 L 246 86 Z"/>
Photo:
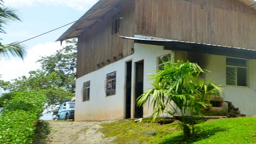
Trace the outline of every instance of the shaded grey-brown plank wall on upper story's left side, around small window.
<path fill-rule="evenodd" d="M 134 0 L 124 0 L 78 37 L 77 78 L 122 58 L 119 53 L 123 57 L 133 53 L 133 42 L 119 35 L 134 36 L 134 11 Z M 120 19 L 120 31 L 112 36 L 112 16 L 117 12 L 123 19 Z"/>

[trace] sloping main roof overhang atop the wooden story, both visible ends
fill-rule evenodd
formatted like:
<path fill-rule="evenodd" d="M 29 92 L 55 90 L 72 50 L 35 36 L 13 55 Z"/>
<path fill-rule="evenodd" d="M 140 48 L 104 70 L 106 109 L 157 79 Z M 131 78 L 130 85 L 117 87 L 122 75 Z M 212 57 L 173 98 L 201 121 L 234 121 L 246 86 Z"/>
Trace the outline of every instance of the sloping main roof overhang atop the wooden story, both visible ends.
<path fill-rule="evenodd" d="M 112 10 L 116 4 L 122 0 L 99 0 L 92 6 L 82 17 L 80 17 L 68 30 L 66 30 L 57 41 L 63 41 L 70 38 L 80 36 L 86 29 L 90 29 L 93 24 L 102 19 L 107 12 Z M 254 0 L 239 0 L 256 10 L 256 2 Z"/>

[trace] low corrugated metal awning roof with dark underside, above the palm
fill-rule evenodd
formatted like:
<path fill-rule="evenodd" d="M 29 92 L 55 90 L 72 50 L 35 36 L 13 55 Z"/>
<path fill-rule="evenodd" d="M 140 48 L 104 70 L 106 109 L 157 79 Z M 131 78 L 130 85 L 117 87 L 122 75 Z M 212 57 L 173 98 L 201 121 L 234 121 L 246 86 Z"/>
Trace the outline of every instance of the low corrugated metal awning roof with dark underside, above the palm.
<path fill-rule="evenodd" d="M 162 45 L 165 50 L 179 50 L 217 54 L 220 56 L 238 57 L 246 59 L 256 59 L 256 51 L 242 47 L 231 47 L 224 45 L 213 45 L 196 42 L 185 42 L 181 40 L 161 39 L 147 36 L 136 35 L 136 37 L 120 36 L 125 39 L 135 40 L 135 43 Z"/>

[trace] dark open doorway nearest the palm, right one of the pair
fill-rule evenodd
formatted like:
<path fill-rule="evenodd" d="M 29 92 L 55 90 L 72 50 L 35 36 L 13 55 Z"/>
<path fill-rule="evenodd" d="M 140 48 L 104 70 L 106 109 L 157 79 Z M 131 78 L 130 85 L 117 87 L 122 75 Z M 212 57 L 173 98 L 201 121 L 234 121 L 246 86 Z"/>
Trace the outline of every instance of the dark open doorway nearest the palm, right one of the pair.
<path fill-rule="evenodd" d="M 143 94 L 143 77 L 144 77 L 144 60 L 138 61 L 135 71 L 135 106 L 134 106 L 134 118 L 143 118 L 143 107 L 138 107 L 136 99 L 139 95 Z"/>

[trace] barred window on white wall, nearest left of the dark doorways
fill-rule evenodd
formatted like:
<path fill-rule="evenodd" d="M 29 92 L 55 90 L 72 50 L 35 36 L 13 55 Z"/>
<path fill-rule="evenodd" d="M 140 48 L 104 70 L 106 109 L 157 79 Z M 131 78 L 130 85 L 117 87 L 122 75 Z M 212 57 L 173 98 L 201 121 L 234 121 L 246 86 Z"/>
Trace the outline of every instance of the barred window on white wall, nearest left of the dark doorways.
<path fill-rule="evenodd" d="M 106 75 L 106 96 L 116 94 L 116 72 Z"/>

